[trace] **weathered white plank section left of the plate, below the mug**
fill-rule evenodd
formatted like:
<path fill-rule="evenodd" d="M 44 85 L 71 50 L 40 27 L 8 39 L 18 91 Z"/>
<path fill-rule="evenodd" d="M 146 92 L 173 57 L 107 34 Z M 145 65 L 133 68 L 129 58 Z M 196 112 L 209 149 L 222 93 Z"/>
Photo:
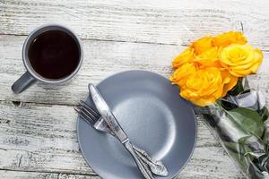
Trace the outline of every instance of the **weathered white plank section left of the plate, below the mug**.
<path fill-rule="evenodd" d="M 78 147 L 73 107 L 0 108 L 2 169 L 93 174 Z"/>

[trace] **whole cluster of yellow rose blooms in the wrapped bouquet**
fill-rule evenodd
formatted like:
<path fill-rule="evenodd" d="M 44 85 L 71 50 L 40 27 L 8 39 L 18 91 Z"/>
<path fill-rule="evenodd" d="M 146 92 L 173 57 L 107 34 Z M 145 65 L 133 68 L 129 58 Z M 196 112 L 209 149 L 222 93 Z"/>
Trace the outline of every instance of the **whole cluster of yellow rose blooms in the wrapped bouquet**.
<path fill-rule="evenodd" d="M 173 60 L 176 70 L 169 80 L 178 84 L 181 97 L 197 106 L 212 105 L 262 63 L 262 52 L 246 43 L 236 31 L 199 38 Z"/>

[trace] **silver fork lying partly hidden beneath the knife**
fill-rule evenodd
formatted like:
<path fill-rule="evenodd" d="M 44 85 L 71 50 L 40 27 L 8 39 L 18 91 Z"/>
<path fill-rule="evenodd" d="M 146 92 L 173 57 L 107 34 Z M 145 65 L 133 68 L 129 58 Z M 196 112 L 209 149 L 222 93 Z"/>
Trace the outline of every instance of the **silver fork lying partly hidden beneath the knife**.
<path fill-rule="evenodd" d="M 81 100 L 77 108 L 74 108 L 74 110 L 82 117 L 82 119 L 91 124 L 91 126 L 97 131 L 107 132 L 114 136 L 114 133 L 110 130 L 101 115 L 92 107 L 87 105 L 84 101 Z M 147 152 L 143 149 L 140 149 L 136 146 L 133 147 L 137 156 L 141 158 L 147 166 L 149 166 L 153 174 L 161 176 L 169 175 L 167 168 L 162 164 L 160 160 L 151 158 L 149 154 L 147 154 Z"/>

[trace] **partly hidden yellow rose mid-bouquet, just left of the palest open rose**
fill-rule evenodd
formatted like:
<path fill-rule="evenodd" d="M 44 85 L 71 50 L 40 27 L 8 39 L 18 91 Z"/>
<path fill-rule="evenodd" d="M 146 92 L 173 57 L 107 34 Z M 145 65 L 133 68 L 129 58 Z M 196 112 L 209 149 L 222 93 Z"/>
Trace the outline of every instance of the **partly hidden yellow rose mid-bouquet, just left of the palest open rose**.
<path fill-rule="evenodd" d="M 201 67 L 222 67 L 219 61 L 218 47 L 211 47 L 200 55 L 196 55 L 194 62 L 200 64 Z"/>

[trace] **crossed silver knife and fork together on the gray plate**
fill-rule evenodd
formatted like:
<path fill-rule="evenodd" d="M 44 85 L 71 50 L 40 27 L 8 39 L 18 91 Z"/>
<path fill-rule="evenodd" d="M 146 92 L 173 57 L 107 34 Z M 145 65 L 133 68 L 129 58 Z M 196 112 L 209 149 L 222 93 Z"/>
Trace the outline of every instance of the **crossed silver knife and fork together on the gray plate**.
<path fill-rule="evenodd" d="M 81 101 L 78 109 L 75 110 L 79 115 L 82 116 L 82 119 L 89 122 L 98 131 L 108 132 L 109 134 L 117 137 L 131 153 L 134 161 L 145 178 L 153 178 L 152 173 L 163 176 L 169 175 L 166 167 L 161 163 L 161 161 L 151 158 L 143 149 L 133 146 L 133 144 L 127 138 L 126 133 L 117 123 L 116 117 L 112 114 L 108 105 L 100 96 L 99 91 L 91 84 L 89 85 L 89 90 L 91 93 L 91 98 L 101 113 L 96 112 L 86 103 Z"/>

